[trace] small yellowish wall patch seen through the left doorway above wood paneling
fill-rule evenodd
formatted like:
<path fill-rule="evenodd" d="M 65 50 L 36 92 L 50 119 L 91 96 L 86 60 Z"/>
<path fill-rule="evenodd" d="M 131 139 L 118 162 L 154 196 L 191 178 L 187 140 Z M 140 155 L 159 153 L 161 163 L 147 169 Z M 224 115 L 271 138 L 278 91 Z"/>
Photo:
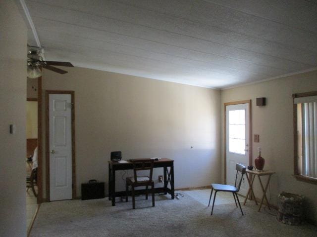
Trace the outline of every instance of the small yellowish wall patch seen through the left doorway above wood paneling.
<path fill-rule="evenodd" d="M 26 138 L 38 138 L 38 102 L 26 102 Z"/>

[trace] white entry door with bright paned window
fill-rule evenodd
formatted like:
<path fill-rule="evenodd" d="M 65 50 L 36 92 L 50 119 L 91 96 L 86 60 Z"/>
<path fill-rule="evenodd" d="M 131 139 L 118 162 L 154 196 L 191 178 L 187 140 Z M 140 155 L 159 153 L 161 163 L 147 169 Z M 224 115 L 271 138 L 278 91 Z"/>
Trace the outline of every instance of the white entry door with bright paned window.
<path fill-rule="evenodd" d="M 236 163 L 249 165 L 249 104 L 226 106 L 226 180 L 234 185 Z M 246 179 L 242 181 L 240 192 L 246 195 Z"/>

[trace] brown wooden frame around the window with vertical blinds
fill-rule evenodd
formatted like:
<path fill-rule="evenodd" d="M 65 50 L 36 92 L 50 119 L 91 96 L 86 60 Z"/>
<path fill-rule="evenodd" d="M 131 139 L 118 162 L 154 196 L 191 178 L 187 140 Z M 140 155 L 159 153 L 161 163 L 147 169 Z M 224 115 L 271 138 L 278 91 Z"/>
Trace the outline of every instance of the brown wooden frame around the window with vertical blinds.
<path fill-rule="evenodd" d="M 299 181 L 307 183 L 317 184 L 317 178 L 306 176 L 301 174 L 301 170 L 298 167 L 298 137 L 297 137 L 297 104 L 295 104 L 295 98 L 317 96 L 317 91 L 310 91 L 304 93 L 293 94 L 293 132 L 294 132 L 294 176 Z"/>

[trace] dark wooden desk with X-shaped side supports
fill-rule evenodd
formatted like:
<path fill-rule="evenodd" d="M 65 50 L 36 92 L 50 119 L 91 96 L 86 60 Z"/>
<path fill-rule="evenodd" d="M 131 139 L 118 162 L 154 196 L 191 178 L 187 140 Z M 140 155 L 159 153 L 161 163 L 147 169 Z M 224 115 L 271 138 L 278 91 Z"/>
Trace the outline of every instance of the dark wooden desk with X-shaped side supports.
<path fill-rule="evenodd" d="M 169 170 L 168 170 L 169 167 Z M 163 168 L 164 187 L 155 188 L 155 193 L 168 193 L 171 198 L 174 199 L 174 160 L 168 158 L 161 158 L 154 161 L 154 168 Z M 125 191 L 115 192 L 115 171 L 133 169 L 131 162 L 119 163 L 117 161 L 108 161 L 108 174 L 109 174 L 109 200 L 112 202 L 112 206 L 115 205 L 115 197 L 125 196 Z M 168 188 L 168 184 L 170 188 Z M 136 190 L 136 194 L 145 194 L 145 189 Z M 130 195 L 130 193 L 129 193 Z"/>

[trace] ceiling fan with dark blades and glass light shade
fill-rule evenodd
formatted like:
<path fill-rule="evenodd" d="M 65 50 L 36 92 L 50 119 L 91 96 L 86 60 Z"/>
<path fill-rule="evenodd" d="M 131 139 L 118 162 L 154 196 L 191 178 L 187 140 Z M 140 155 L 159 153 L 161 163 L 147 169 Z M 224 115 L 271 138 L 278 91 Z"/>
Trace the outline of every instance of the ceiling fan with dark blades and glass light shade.
<path fill-rule="evenodd" d="M 63 67 L 74 67 L 69 62 L 56 62 L 56 61 L 44 61 L 41 56 L 42 49 L 35 46 L 29 46 L 27 55 L 27 69 L 28 78 L 38 78 L 41 77 L 41 68 L 46 68 L 55 73 L 65 74 L 67 71 L 53 67 L 53 66 L 63 66 Z M 53 65 L 53 66 L 52 66 Z"/>

